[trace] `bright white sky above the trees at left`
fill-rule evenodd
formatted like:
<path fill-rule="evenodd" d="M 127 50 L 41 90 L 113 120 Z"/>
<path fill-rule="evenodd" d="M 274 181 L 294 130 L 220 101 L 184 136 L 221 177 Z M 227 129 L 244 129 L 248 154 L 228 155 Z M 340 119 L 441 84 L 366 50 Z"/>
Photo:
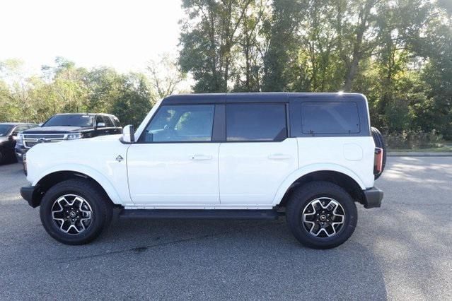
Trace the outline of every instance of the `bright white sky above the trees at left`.
<path fill-rule="evenodd" d="M 0 0 L 0 61 L 39 71 L 65 57 L 77 66 L 142 71 L 176 54 L 180 0 Z"/>

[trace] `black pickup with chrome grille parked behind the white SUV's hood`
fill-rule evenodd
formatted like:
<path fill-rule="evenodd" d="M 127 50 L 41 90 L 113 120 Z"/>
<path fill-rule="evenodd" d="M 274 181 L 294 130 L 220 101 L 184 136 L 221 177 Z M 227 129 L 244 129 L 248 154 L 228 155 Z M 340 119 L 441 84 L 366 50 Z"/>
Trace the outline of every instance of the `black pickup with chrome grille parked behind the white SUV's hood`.
<path fill-rule="evenodd" d="M 19 135 L 16 143 L 16 157 L 18 161 L 22 162 L 23 154 L 37 143 L 59 142 L 121 133 L 120 120 L 111 114 L 55 114 L 40 127 L 28 129 Z"/>

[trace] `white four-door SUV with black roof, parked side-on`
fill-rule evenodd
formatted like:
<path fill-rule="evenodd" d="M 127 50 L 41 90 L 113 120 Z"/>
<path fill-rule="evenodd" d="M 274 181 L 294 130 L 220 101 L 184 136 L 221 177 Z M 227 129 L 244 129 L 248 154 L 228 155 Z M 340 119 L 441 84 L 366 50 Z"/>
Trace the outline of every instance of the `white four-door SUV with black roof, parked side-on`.
<path fill-rule="evenodd" d="M 364 95 L 172 95 L 137 131 L 31 148 L 21 194 L 66 244 L 93 240 L 118 207 L 124 218 L 285 215 L 300 242 L 326 249 L 352 235 L 355 203 L 381 205 L 385 155 Z"/>

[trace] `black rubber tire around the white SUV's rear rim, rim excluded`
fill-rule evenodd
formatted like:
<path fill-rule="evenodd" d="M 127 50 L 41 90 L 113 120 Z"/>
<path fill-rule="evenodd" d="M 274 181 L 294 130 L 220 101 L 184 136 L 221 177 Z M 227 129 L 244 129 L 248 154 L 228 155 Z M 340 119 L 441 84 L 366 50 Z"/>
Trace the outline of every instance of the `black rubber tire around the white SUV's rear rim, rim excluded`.
<path fill-rule="evenodd" d="M 315 237 L 307 229 L 308 224 L 303 223 L 303 210 L 319 198 L 333 199 L 340 203 L 344 210 L 343 224 L 331 237 Z M 286 206 L 286 220 L 291 232 L 301 244 L 314 249 L 330 249 L 347 241 L 357 226 L 357 219 L 357 206 L 352 197 L 331 182 L 310 182 L 297 188 L 289 197 Z"/>

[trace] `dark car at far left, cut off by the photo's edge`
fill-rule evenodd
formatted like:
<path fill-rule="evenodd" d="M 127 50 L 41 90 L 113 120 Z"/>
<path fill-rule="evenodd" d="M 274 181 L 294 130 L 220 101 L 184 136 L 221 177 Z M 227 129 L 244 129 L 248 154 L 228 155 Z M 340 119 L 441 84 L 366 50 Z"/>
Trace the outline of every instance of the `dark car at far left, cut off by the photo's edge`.
<path fill-rule="evenodd" d="M 35 126 L 36 124 L 0 123 L 0 164 L 16 160 L 14 146 L 18 133 Z"/>

